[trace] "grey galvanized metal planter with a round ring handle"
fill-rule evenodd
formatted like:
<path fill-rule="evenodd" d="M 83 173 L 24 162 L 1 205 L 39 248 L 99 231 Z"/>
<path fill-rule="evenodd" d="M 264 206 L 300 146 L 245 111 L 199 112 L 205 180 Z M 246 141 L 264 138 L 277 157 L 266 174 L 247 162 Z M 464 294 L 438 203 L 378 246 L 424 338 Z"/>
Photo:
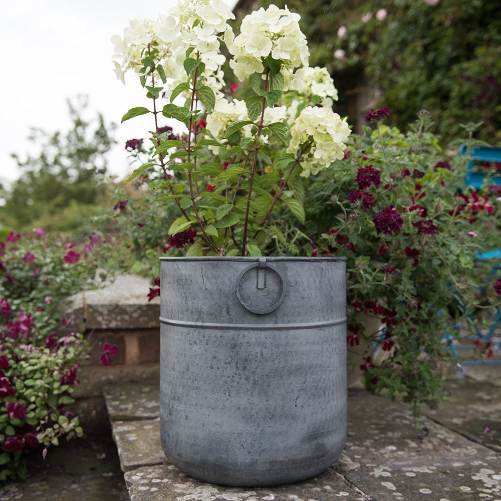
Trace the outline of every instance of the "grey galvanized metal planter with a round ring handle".
<path fill-rule="evenodd" d="M 291 483 L 346 436 L 343 258 L 160 258 L 160 435 L 200 480 Z"/>

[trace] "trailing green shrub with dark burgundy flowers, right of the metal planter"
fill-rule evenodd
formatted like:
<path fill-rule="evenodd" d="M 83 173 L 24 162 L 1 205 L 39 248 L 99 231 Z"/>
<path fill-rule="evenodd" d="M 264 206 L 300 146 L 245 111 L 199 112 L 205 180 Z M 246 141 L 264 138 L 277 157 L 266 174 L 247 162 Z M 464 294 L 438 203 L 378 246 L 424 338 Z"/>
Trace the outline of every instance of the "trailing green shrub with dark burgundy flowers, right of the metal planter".
<path fill-rule="evenodd" d="M 426 112 L 406 134 L 382 125 L 389 113 L 370 111 L 377 129 L 354 134 L 344 159 L 312 178 L 306 221 L 314 256 L 348 260 L 348 350 L 367 347 L 367 384 L 417 410 L 443 397 L 436 369 L 454 362 L 446 348 L 460 323 L 499 304 L 499 270 L 488 277 L 475 252 L 498 245 L 501 193 L 465 185 L 467 160 L 441 150 Z M 365 332 L 362 315 L 383 328 Z"/>

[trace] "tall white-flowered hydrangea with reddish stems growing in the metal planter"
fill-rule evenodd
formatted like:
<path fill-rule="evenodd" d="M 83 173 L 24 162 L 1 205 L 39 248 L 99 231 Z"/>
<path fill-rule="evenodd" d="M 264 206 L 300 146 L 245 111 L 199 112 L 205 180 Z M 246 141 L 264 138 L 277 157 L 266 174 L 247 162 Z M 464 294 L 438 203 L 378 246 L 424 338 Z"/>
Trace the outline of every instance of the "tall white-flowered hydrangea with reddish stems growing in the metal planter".
<path fill-rule="evenodd" d="M 285 240 L 283 214 L 304 222 L 306 178 L 342 158 L 350 134 L 332 110 L 329 74 L 308 66 L 297 14 L 259 9 L 236 36 L 227 24 L 233 18 L 219 1 L 181 0 L 169 15 L 133 21 L 112 39 L 117 75 L 125 81 L 135 72 L 152 100 L 122 119 L 151 114 L 154 122 L 151 148 L 127 142 L 146 156 L 129 181 L 139 180 L 143 192 L 166 190 L 147 205 L 161 204 L 169 216 L 175 209 L 166 243 L 190 256 L 260 256 L 273 239 Z M 224 82 L 221 43 L 235 77 L 250 84 L 245 100 Z M 162 116 L 184 126 L 180 137 L 163 132 Z"/>

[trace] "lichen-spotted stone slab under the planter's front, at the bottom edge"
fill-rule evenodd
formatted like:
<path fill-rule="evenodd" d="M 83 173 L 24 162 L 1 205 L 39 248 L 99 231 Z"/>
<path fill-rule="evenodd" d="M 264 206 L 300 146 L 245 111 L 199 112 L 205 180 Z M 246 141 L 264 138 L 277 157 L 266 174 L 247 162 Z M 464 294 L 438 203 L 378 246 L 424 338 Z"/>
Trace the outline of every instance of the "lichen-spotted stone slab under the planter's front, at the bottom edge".
<path fill-rule="evenodd" d="M 125 473 L 131 501 L 372 501 L 334 468 L 311 480 L 277 487 L 226 487 L 199 482 L 164 463 Z"/>

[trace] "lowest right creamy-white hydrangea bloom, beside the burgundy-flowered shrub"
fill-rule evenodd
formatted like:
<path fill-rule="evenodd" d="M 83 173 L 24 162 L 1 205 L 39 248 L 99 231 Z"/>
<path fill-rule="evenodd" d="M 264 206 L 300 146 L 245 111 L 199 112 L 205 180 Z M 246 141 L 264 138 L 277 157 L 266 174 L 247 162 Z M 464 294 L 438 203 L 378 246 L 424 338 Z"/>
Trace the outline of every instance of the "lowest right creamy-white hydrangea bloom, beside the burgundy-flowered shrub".
<path fill-rule="evenodd" d="M 332 111 L 332 108 L 307 106 L 291 128 L 291 141 L 288 153 L 298 155 L 300 148 L 311 142 L 310 149 L 303 154 L 301 176 L 318 174 L 329 167 L 334 160 L 341 160 L 346 149 L 345 141 L 350 135 L 345 119 Z"/>

